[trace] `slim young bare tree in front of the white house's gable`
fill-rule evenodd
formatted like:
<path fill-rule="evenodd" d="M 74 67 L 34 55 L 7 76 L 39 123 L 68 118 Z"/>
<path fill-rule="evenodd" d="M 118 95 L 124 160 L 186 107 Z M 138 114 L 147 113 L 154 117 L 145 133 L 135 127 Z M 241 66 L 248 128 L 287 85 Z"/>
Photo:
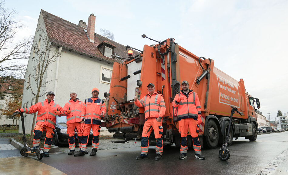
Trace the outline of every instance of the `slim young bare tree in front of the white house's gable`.
<path fill-rule="evenodd" d="M 28 80 L 25 80 L 29 88 L 31 89 L 33 96 L 35 96 L 35 104 L 38 103 L 39 97 L 42 97 L 46 94 L 45 90 L 42 90 L 41 88 L 44 87 L 45 84 L 50 84 L 50 82 L 53 81 L 53 79 L 49 80 L 48 77 L 45 76 L 45 73 L 47 73 L 49 65 L 54 63 L 57 57 L 60 55 L 56 47 L 51 44 L 51 41 L 49 39 L 49 31 L 47 31 L 46 33 L 42 28 L 40 28 L 40 30 L 37 32 L 40 36 L 41 42 L 34 40 L 35 47 L 33 48 L 33 51 L 35 53 L 35 56 L 33 61 L 35 61 L 36 64 L 33 67 L 33 74 L 30 75 L 30 78 Z M 35 81 L 32 81 L 33 79 Z M 36 113 L 34 113 L 33 116 L 30 137 L 31 141 L 33 139 L 35 118 Z"/>

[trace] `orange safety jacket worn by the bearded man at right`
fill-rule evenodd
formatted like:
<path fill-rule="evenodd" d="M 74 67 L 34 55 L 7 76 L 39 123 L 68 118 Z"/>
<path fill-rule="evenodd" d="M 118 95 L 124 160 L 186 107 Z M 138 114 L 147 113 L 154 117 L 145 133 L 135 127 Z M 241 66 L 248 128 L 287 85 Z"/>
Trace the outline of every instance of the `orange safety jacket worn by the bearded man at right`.
<path fill-rule="evenodd" d="M 184 100 L 179 100 L 180 97 L 184 97 Z M 194 120 L 201 121 L 201 106 L 198 95 L 189 89 L 188 98 L 184 94 L 183 90 L 179 94 L 175 95 L 172 102 L 173 107 L 178 107 L 177 116 L 178 119 L 194 118 Z"/>

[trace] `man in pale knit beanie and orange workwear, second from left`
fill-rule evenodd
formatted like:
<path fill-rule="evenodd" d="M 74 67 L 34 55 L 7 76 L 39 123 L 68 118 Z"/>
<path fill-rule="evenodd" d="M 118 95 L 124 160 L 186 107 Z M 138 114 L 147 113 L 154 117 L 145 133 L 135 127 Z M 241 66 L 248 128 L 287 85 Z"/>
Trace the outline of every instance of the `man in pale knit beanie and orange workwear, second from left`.
<path fill-rule="evenodd" d="M 77 94 L 75 91 L 70 92 L 70 100 L 63 107 L 64 114 L 67 116 L 67 134 L 69 135 L 68 143 L 69 143 L 69 153 L 68 155 L 72 155 L 75 152 L 75 140 L 74 133 L 77 131 L 77 137 L 79 140 L 79 148 L 81 149 L 81 137 L 82 134 L 80 132 L 81 126 L 84 125 L 84 121 L 81 120 L 81 109 L 85 106 L 83 101 L 80 101 L 77 98 Z M 79 150 L 80 151 L 80 150 Z M 85 154 L 88 154 L 85 151 Z"/>

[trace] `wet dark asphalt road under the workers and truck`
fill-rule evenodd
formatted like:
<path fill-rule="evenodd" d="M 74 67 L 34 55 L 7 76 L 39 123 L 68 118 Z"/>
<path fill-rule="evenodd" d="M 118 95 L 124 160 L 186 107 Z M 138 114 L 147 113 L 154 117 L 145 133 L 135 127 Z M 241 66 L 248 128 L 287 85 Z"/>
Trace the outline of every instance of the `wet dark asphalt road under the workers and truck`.
<path fill-rule="evenodd" d="M 146 160 L 135 159 L 140 153 L 140 147 L 135 147 L 99 150 L 96 156 L 51 154 L 40 161 L 66 174 L 257 174 L 288 149 L 288 132 L 261 134 L 256 142 L 239 138 L 228 149 L 227 161 L 219 159 L 219 148 L 203 149 L 205 160 L 194 158 L 194 151 L 188 149 L 187 159 L 178 160 L 179 148 L 175 146 L 164 148 L 160 161 L 154 160 L 156 152 L 152 146 Z"/>

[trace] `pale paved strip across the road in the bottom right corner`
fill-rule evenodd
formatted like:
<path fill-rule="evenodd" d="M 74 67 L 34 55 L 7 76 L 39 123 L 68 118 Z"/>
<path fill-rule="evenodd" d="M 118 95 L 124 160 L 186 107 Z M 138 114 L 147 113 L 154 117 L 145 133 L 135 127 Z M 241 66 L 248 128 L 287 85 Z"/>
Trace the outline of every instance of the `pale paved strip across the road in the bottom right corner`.
<path fill-rule="evenodd" d="M 266 174 L 273 174 L 275 169 L 279 166 L 285 158 L 288 157 L 288 149 L 284 150 L 278 157 L 272 160 L 265 168 L 263 168 L 258 174 L 259 175 L 266 175 Z"/>

